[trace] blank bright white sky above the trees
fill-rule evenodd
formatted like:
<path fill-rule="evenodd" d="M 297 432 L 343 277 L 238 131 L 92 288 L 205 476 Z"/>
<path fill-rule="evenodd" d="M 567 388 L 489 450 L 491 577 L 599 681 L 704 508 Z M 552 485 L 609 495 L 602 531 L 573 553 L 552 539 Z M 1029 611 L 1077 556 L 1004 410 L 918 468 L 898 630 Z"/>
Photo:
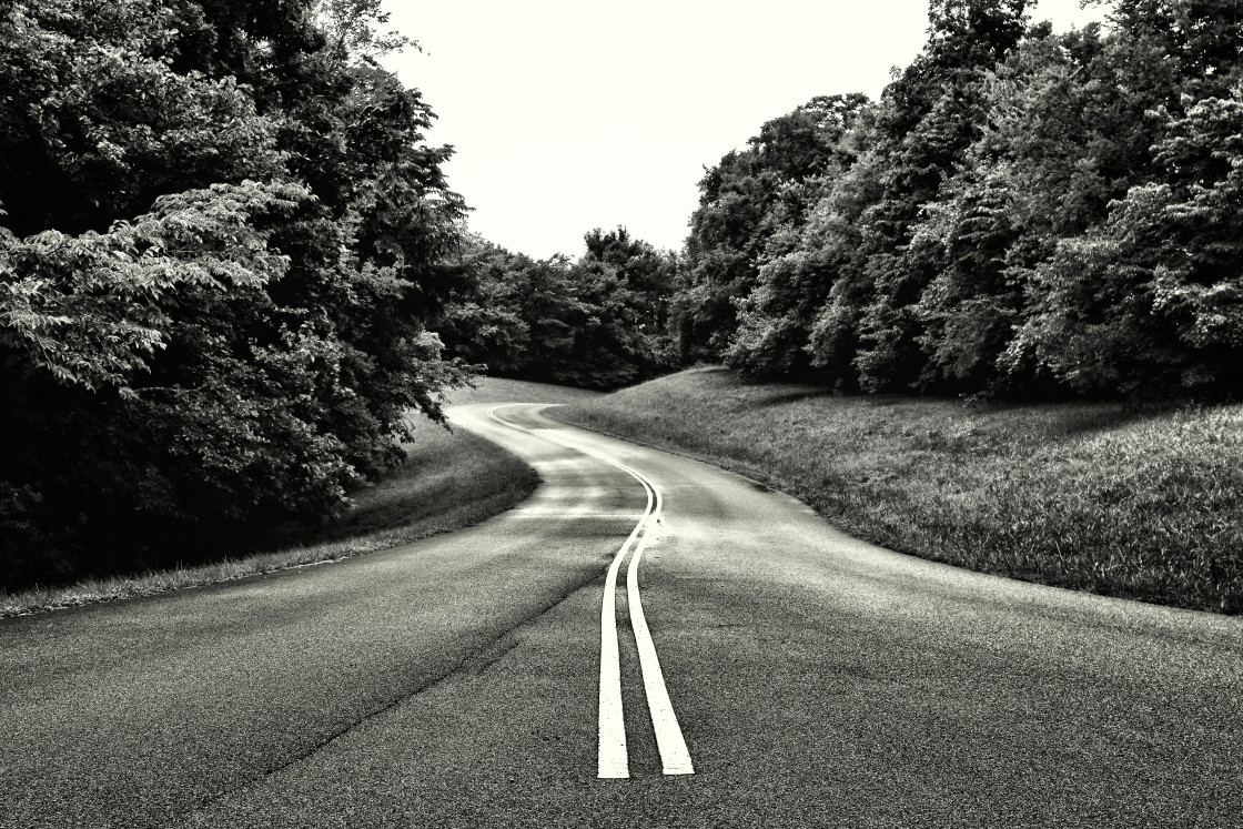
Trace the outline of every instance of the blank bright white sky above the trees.
<path fill-rule="evenodd" d="M 876 98 L 926 40 L 927 0 L 385 0 L 385 61 L 439 116 L 471 229 L 536 257 L 625 225 L 679 250 L 705 167 L 817 94 Z M 1039 0 L 1057 31 L 1103 16 Z"/>

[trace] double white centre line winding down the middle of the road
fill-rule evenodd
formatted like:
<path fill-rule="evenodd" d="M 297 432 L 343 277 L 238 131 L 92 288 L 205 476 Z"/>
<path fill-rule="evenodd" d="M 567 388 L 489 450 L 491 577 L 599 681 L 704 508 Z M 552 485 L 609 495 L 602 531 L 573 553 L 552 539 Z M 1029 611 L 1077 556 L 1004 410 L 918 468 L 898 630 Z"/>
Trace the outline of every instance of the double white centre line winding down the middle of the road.
<path fill-rule="evenodd" d="M 651 715 L 651 727 L 656 735 L 661 771 L 665 774 L 694 774 L 695 766 L 691 763 L 690 751 L 686 748 L 686 738 L 677 725 L 677 716 L 674 713 L 674 705 L 669 698 L 669 689 L 665 686 L 665 675 L 660 667 L 660 657 L 656 655 L 656 645 L 651 639 L 651 630 L 648 628 L 643 602 L 639 598 L 639 561 L 648 548 L 651 528 L 660 522 L 660 512 L 664 506 L 660 491 L 655 483 L 625 464 L 599 452 L 553 440 L 548 435 L 536 434 L 531 429 L 510 423 L 496 414 L 497 409 L 506 409 L 510 405 L 522 404 L 492 406 L 488 409 L 487 416 L 511 429 L 518 429 L 551 444 L 573 449 L 615 466 L 639 481 L 648 493 L 648 508 L 639 518 L 639 523 L 630 531 L 629 538 L 613 556 L 613 562 L 604 578 L 604 599 L 600 603 L 600 706 L 597 777 L 630 777 L 625 721 L 622 716 L 622 657 L 618 650 L 617 631 L 617 579 L 628 554 L 630 554 L 630 566 L 626 569 L 626 604 L 630 607 L 630 626 L 634 629 L 635 645 L 639 650 L 639 667 L 643 674 L 648 711 Z"/>

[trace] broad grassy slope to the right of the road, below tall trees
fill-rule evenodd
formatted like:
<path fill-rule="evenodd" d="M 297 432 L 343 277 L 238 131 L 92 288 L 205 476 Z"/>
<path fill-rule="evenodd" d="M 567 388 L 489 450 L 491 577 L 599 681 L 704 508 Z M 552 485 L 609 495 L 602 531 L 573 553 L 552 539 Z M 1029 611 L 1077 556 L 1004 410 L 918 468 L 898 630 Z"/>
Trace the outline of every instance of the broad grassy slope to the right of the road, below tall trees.
<path fill-rule="evenodd" d="M 1243 610 L 1243 406 L 968 405 L 696 369 L 558 419 L 742 472 L 846 532 L 987 573 Z"/>

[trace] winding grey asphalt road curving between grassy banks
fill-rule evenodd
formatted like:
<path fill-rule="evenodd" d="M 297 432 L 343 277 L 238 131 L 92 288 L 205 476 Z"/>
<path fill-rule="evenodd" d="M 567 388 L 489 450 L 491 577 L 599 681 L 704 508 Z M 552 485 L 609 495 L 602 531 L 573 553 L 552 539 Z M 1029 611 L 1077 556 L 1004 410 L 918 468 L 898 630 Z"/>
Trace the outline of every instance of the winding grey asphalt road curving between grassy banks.
<path fill-rule="evenodd" d="M 1243 825 L 1243 620 L 897 556 L 488 409 L 451 418 L 544 483 L 480 527 L 0 623 L 0 827 Z"/>

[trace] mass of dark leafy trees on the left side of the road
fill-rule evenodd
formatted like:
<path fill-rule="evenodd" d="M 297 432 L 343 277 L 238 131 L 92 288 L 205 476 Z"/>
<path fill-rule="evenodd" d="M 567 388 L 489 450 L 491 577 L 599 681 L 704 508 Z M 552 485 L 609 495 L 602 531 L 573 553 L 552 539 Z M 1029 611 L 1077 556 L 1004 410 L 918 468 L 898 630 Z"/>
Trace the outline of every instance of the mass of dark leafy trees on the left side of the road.
<path fill-rule="evenodd" d="M 408 42 L 383 22 L 379 0 L 2 5 L 0 584 L 333 515 L 409 410 L 440 415 L 465 374 L 426 323 L 464 205 L 428 104 L 373 60 Z"/>

